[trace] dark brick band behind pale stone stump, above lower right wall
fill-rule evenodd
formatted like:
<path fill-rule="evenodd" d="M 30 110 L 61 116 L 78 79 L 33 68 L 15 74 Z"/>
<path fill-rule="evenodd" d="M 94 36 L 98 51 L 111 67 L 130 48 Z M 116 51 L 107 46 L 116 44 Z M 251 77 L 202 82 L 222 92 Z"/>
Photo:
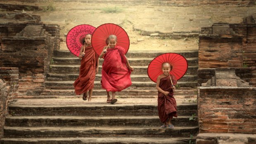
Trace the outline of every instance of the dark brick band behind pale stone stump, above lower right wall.
<path fill-rule="evenodd" d="M 215 69 L 217 70 L 227 70 L 235 69 L 235 74 L 248 82 L 250 86 L 256 87 L 256 67 L 249 68 L 199 68 L 197 70 L 198 75 L 198 86 L 201 86 L 202 83 L 206 83 L 215 75 Z"/>

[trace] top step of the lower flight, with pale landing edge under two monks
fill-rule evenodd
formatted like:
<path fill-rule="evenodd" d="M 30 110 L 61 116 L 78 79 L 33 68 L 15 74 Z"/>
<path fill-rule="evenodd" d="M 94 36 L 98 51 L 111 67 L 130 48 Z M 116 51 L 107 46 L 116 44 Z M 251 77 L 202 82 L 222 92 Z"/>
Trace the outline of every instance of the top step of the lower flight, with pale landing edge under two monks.
<path fill-rule="evenodd" d="M 104 99 L 85 102 L 82 99 L 18 99 L 9 105 L 12 116 L 158 116 L 155 99 L 118 99 L 114 105 Z M 179 116 L 197 113 L 197 104 L 177 99 Z"/>

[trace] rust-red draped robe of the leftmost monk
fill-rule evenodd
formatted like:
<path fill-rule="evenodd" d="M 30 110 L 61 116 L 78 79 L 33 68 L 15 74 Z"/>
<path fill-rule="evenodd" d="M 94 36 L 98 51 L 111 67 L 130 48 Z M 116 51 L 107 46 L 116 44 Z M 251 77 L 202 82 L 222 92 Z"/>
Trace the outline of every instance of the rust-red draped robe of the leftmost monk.
<path fill-rule="evenodd" d="M 87 92 L 94 87 L 98 57 L 92 46 L 85 47 L 85 56 L 81 59 L 79 76 L 73 83 L 77 95 Z"/>

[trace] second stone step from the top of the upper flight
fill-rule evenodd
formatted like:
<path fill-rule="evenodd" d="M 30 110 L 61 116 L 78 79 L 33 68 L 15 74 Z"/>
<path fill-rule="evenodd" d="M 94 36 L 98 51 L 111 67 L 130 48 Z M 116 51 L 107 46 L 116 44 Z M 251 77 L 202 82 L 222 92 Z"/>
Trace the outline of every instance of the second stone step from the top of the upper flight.
<path fill-rule="evenodd" d="M 131 66 L 148 66 L 154 58 L 129 58 Z M 52 57 L 55 65 L 80 65 L 81 59 L 78 57 Z M 100 65 L 102 65 L 104 59 L 100 59 Z M 198 66 L 198 57 L 187 58 L 189 66 Z"/>

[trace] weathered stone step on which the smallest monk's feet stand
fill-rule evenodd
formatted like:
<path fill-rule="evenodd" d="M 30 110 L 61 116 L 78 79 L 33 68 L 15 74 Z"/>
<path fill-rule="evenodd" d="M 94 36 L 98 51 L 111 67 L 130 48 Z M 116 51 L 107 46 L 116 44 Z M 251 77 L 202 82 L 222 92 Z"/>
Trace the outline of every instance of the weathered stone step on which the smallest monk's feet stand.
<path fill-rule="evenodd" d="M 4 127 L 5 138 L 27 137 L 190 137 L 197 126 L 163 129 L 154 127 Z"/>

